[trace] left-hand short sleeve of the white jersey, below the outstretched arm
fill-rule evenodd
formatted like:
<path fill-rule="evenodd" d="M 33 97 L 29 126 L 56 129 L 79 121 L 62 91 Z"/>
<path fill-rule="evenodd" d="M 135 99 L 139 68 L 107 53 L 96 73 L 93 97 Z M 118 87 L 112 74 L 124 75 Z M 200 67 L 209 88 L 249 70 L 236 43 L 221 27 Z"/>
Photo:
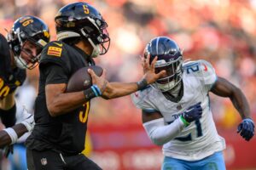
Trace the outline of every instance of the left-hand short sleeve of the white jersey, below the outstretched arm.
<path fill-rule="evenodd" d="M 143 110 L 144 112 L 156 112 L 158 109 L 155 107 L 155 105 L 150 101 L 149 95 L 148 95 L 148 90 L 143 90 L 143 91 L 137 91 L 134 94 L 131 94 L 131 100 L 133 104 Z"/>

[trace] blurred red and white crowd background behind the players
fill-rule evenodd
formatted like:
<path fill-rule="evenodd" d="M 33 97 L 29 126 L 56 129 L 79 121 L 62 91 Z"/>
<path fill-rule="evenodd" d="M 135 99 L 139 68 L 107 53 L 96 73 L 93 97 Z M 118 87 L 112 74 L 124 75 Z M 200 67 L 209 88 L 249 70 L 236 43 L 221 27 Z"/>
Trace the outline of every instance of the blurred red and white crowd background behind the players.
<path fill-rule="evenodd" d="M 10 30 L 15 19 L 32 14 L 49 25 L 51 40 L 55 40 L 55 14 L 65 4 L 73 2 L 78 1 L 1 0 L 0 32 L 6 35 L 4 29 Z M 184 59 L 207 59 L 218 76 L 240 87 L 249 100 L 256 121 L 255 0 L 86 2 L 94 5 L 108 23 L 111 45 L 107 54 L 96 59 L 96 64 L 107 70 L 109 81 L 137 81 L 142 75 L 139 57 L 147 42 L 156 36 L 172 37 L 183 48 Z M 28 71 L 28 75 L 26 85 L 37 91 L 38 69 Z M 230 132 L 231 138 L 240 138 L 236 135 L 236 126 L 241 118 L 229 99 L 210 96 L 218 131 Z M 93 137 L 97 138 L 97 135 L 93 132 L 97 129 L 141 127 L 140 111 L 131 104 L 129 96 L 108 101 L 93 99 L 92 105 L 89 126 L 95 146 L 97 141 Z"/>

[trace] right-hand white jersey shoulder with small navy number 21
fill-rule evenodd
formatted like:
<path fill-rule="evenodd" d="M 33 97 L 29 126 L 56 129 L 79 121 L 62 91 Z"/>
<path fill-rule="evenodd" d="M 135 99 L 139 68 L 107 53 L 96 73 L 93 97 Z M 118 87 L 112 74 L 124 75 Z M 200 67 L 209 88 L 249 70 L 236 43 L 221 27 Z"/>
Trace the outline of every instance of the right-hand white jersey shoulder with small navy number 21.
<path fill-rule="evenodd" d="M 187 75 L 198 77 L 206 85 L 211 85 L 217 80 L 213 66 L 204 59 L 186 62 L 183 71 Z"/>

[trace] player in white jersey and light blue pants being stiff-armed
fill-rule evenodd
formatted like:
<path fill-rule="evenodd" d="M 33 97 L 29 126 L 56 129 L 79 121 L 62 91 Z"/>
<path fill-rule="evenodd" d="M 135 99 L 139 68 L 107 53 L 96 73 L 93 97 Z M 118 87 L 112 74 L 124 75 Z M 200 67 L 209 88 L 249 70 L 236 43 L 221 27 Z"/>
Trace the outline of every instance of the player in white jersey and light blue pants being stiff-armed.
<path fill-rule="evenodd" d="M 206 60 L 183 63 L 183 54 L 169 37 L 155 37 L 144 50 L 155 72 L 166 71 L 153 85 L 131 99 L 143 111 L 143 127 L 154 144 L 163 145 L 162 169 L 225 169 L 224 139 L 212 119 L 209 93 L 230 98 L 242 122 L 237 133 L 253 138 L 254 123 L 240 88 L 222 77 Z"/>

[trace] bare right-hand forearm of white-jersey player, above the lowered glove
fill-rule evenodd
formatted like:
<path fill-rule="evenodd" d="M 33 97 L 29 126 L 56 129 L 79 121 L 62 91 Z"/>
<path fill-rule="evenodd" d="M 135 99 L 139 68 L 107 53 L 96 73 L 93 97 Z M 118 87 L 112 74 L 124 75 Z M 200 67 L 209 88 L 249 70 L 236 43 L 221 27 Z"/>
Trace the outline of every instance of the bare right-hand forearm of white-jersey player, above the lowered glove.
<path fill-rule="evenodd" d="M 241 115 L 242 119 L 251 118 L 250 106 L 240 88 L 236 88 L 236 90 L 233 91 L 232 95 L 230 96 L 230 100 Z"/>

